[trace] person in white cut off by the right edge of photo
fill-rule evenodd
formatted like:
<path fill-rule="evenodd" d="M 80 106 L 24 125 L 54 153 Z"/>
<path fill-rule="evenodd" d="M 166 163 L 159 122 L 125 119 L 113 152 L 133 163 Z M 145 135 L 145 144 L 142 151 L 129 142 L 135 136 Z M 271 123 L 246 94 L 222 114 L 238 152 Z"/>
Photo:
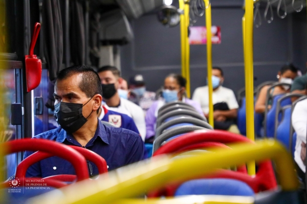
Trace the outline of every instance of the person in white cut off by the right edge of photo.
<path fill-rule="evenodd" d="M 307 91 L 307 86 L 305 87 Z M 305 183 L 306 169 L 306 129 L 307 129 L 307 99 L 299 101 L 292 113 L 292 126 L 297 134 L 294 160 L 297 164 L 297 174 Z"/>

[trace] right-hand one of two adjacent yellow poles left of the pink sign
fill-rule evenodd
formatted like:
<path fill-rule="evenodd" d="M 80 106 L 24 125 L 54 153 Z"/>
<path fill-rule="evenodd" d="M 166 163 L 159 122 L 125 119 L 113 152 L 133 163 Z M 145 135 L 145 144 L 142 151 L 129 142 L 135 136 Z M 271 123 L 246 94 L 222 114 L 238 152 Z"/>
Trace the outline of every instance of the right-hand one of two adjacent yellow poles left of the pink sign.
<path fill-rule="evenodd" d="M 190 24 L 190 16 L 189 16 L 189 11 L 190 11 L 190 5 L 189 3 L 185 3 L 184 5 L 184 17 L 185 17 L 185 78 L 187 80 L 186 84 L 186 93 L 188 98 L 191 96 L 191 89 L 190 89 L 190 43 L 189 43 L 189 35 L 188 35 L 188 28 Z"/>

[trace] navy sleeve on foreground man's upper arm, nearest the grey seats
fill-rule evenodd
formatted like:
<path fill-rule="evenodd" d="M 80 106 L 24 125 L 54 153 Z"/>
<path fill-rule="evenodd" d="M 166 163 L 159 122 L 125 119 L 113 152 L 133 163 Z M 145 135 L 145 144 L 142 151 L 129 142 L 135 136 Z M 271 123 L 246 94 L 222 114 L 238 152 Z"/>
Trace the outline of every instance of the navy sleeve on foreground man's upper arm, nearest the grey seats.
<path fill-rule="evenodd" d="M 143 160 L 144 150 L 144 142 L 141 137 L 137 134 L 131 135 L 127 141 L 125 165 Z"/>

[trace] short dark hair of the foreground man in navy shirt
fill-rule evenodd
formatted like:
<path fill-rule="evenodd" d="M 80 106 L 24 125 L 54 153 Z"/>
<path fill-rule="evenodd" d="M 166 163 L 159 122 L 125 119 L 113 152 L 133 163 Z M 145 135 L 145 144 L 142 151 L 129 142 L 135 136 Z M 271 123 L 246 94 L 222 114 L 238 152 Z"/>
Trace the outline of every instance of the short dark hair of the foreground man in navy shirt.
<path fill-rule="evenodd" d="M 64 80 L 78 73 L 82 74 L 82 80 L 79 83 L 79 88 L 86 94 L 87 97 L 91 98 L 95 94 L 102 95 L 99 75 L 90 66 L 76 65 L 67 67 L 59 72 L 57 80 Z"/>

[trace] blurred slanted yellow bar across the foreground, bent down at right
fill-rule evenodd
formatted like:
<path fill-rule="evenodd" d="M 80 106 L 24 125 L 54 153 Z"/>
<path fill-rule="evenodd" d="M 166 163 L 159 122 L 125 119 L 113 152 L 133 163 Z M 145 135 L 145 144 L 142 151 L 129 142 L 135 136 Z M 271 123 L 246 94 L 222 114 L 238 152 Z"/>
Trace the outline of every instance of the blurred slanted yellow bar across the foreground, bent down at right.
<path fill-rule="evenodd" d="M 291 155 L 277 141 L 266 139 L 255 144 L 237 144 L 233 149 L 220 149 L 199 156 L 170 160 L 155 157 L 40 195 L 29 203 L 113 203 L 123 198 L 139 196 L 173 181 L 191 179 L 208 174 L 217 168 L 247 163 L 251 160 L 273 159 L 281 189 L 295 191 L 299 183 Z"/>

